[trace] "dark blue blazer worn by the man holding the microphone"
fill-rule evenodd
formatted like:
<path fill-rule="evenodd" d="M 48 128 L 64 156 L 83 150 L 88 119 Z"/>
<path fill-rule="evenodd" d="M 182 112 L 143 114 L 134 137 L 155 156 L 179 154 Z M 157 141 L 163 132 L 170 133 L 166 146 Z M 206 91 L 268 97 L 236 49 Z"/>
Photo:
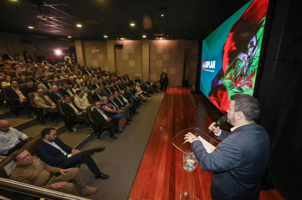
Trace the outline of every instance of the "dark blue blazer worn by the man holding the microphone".
<path fill-rule="evenodd" d="M 201 168 L 214 172 L 212 183 L 225 194 L 260 190 L 270 152 L 266 130 L 256 123 L 246 124 L 231 133 L 221 130 L 217 139 L 222 142 L 213 153 L 207 153 L 200 140 L 191 144 Z"/>

